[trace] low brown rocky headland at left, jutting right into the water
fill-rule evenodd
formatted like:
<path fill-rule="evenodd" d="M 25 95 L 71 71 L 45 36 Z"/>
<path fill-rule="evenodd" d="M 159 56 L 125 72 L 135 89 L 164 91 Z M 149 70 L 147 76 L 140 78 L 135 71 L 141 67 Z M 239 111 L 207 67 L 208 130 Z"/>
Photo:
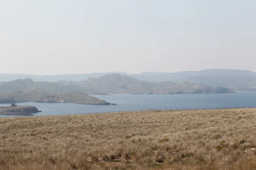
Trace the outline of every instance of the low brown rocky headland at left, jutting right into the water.
<path fill-rule="evenodd" d="M 43 102 L 43 103 L 77 103 L 85 105 L 115 105 L 83 92 L 51 94 L 36 90 L 23 90 L 11 93 L 0 93 L 0 103 Z"/>

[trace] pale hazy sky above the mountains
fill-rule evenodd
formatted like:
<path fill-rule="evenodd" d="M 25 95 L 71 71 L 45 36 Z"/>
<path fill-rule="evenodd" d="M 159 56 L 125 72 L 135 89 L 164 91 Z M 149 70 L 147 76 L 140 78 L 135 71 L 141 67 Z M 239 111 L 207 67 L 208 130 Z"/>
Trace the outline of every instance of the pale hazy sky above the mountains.
<path fill-rule="evenodd" d="M 256 0 L 0 0 L 0 73 L 256 71 Z"/>

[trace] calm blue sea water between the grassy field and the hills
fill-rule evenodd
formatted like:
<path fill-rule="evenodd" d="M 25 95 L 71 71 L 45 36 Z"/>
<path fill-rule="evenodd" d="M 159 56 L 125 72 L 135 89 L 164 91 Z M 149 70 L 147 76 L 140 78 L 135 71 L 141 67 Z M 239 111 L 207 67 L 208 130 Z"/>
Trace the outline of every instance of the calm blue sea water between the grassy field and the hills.
<path fill-rule="evenodd" d="M 41 110 L 34 116 L 105 113 L 118 111 L 143 110 L 177 110 L 177 109 L 215 109 L 215 108 L 256 108 L 256 92 L 239 91 L 235 94 L 176 94 L 176 95 L 95 95 L 106 102 L 117 105 L 79 105 L 74 103 L 33 103 L 24 102 L 17 105 L 31 105 Z M 0 104 L 9 106 L 10 104 Z M 15 117 L 3 116 L 0 117 Z"/>

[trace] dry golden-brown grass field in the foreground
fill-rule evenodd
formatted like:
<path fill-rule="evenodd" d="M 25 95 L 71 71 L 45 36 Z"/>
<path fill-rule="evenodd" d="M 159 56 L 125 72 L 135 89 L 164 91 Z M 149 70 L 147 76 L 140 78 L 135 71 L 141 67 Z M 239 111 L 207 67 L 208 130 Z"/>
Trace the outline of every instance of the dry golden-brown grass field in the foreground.
<path fill-rule="evenodd" d="M 0 170 L 256 170 L 256 109 L 0 118 Z"/>

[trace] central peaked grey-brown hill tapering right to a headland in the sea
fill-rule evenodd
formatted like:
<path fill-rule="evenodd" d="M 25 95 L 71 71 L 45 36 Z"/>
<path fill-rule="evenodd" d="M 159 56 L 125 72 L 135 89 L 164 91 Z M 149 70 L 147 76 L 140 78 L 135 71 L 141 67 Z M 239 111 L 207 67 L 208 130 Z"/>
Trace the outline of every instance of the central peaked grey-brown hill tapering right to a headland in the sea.
<path fill-rule="evenodd" d="M 85 91 L 94 94 L 215 94 L 231 93 L 227 88 L 211 88 L 202 84 L 184 82 L 145 82 L 121 74 L 107 74 L 76 82 Z"/>

